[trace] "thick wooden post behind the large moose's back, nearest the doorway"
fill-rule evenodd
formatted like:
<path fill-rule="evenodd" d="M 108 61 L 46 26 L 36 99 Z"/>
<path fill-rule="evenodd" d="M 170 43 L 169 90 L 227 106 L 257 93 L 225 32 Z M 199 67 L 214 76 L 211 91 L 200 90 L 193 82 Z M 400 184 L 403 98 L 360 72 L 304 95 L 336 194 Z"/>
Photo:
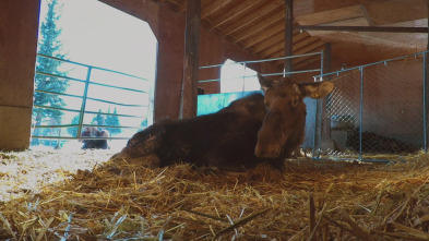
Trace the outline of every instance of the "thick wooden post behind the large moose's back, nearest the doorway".
<path fill-rule="evenodd" d="M 180 119 L 196 116 L 201 1 L 187 0 Z"/>

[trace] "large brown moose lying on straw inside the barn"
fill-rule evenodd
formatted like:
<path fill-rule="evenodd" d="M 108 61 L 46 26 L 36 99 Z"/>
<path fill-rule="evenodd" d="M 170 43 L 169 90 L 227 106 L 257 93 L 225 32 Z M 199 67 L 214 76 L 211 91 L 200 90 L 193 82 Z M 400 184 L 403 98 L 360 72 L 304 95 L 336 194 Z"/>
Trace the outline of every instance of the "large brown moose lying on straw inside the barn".
<path fill-rule="evenodd" d="M 155 123 L 135 133 L 110 160 L 126 159 L 150 168 L 188 162 L 225 171 L 269 162 L 282 169 L 284 159 L 303 142 L 303 98 L 323 98 L 334 84 L 258 77 L 264 95 L 250 94 L 215 113 Z"/>

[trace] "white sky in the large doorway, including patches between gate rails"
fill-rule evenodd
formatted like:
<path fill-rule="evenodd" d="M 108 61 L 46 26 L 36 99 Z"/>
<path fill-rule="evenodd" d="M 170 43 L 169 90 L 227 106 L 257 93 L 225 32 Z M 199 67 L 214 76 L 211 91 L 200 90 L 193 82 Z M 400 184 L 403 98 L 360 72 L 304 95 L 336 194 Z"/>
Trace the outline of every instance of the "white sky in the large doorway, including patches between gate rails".
<path fill-rule="evenodd" d="M 123 77 L 93 70 L 92 82 L 103 82 L 104 84 L 120 85 L 122 87 L 139 88 L 150 91 L 150 83 L 155 79 L 157 40 L 151 27 L 144 21 L 126 14 L 97 0 L 59 0 L 62 4 L 62 14 L 57 23 L 62 28 L 60 40 L 62 41 L 62 52 L 67 53 L 67 59 L 84 64 L 110 69 L 132 75 L 138 75 L 150 82 L 136 81 L 135 79 Z M 47 12 L 47 0 L 41 0 L 40 21 L 44 21 Z M 69 71 L 68 75 L 84 80 L 86 68 L 71 64 L 62 64 L 62 69 Z M 138 82 L 138 83 L 136 83 Z M 70 81 L 67 89 L 69 94 L 83 95 L 83 84 Z M 147 94 L 124 93 L 112 88 L 107 89 L 97 85 L 90 85 L 88 96 L 108 101 L 122 104 L 148 105 Z M 67 103 L 65 108 L 80 109 L 81 101 L 76 98 L 63 97 Z M 78 101 L 76 101 L 78 100 Z M 86 111 L 104 112 L 114 111 L 115 106 L 109 104 L 88 100 Z M 152 121 L 152 111 L 147 107 L 131 109 L 119 107 L 118 113 L 131 116 L 148 115 L 148 122 Z M 62 123 L 71 122 L 75 112 L 64 111 Z M 92 115 L 85 115 L 84 123 L 91 123 Z M 122 118 L 122 125 L 140 126 L 142 119 Z M 134 129 L 124 129 L 121 136 L 131 136 Z"/>

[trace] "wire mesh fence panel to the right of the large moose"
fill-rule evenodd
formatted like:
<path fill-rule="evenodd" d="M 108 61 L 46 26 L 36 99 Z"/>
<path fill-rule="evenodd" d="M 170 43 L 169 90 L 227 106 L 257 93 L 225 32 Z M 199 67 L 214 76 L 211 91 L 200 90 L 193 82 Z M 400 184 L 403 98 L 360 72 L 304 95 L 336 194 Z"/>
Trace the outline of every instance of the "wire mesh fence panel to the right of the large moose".
<path fill-rule="evenodd" d="M 335 84 L 317 158 L 395 160 L 424 147 L 422 53 L 323 76 Z"/>

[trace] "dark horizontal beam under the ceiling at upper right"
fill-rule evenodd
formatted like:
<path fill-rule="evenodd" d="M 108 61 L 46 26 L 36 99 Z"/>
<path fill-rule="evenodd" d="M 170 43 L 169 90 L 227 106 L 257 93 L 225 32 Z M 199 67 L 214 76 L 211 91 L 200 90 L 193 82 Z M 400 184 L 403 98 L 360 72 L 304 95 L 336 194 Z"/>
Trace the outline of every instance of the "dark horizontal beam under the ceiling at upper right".
<path fill-rule="evenodd" d="M 384 26 L 321 26 L 298 25 L 298 31 L 338 31 L 338 32 L 388 32 L 388 33 L 427 33 L 427 27 L 384 27 Z"/>

